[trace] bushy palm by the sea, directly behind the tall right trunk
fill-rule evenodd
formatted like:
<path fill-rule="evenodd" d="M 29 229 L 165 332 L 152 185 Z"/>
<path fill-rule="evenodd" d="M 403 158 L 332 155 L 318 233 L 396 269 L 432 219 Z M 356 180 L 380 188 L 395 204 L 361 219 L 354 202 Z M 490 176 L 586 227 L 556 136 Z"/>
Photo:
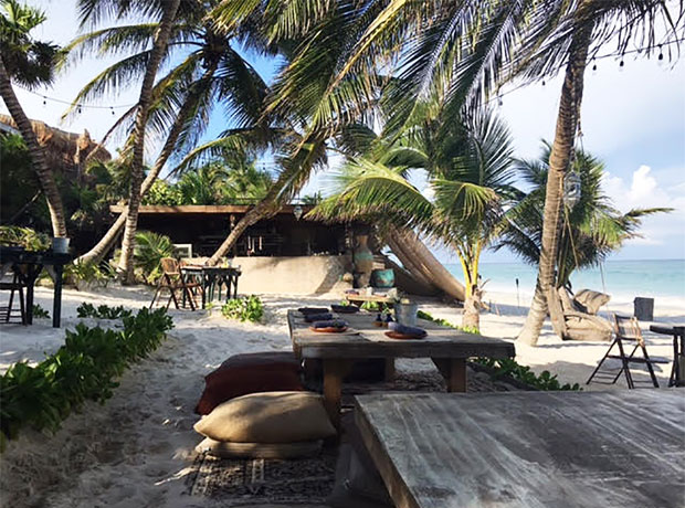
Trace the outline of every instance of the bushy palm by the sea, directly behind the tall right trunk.
<path fill-rule="evenodd" d="M 517 161 L 517 173 L 531 189 L 507 212 L 506 223 L 495 245 L 495 248 L 510 248 L 531 265 L 540 261 L 550 151 L 551 147 L 545 144 L 538 160 Z M 619 212 L 602 191 L 604 165 L 580 149 L 575 152 L 572 171 L 580 177 L 581 199 L 572 209 L 563 208 L 555 288 L 570 287 L 573 271 L 599 265 L 623 242 L 639 236 L 637 229 L 643 216 L 671 211 L 652 208 Z"/>

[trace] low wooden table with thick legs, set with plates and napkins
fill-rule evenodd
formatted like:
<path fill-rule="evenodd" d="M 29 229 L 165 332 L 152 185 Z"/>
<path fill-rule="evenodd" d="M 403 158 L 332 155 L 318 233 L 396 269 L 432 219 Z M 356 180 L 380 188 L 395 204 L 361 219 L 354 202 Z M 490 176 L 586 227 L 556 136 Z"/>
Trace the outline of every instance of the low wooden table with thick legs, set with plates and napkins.
<path fill-rule="evenodd" d="M 466 391 L 466 359 L 471 357 L 513 358 L 514 345 L 499 339 L 465 334 L 419 319 L 428 337 L 420 340 L 396 340 L 386 337 L 387 329 L 373 327 L 373 313 L 341 315 L 356 335 L 320 334 L 296 310 L 288 310 L 293 350 L 298 358 L 320 359 L 324 366 L 324 402 L 336 424 L 340 417 L 342 378 L 355 360 L 366 358 L 431 358 L 444 377 L 451 392 Z"/>

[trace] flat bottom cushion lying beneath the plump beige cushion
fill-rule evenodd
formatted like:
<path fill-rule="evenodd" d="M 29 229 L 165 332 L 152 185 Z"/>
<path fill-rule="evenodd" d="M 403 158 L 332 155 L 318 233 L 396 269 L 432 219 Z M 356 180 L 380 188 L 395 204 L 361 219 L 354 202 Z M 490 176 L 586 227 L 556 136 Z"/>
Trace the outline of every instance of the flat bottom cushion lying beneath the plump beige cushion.
<path fill-rule="evenodd" d="M 301 458 L 314 457 L 322 451 L 323 441 L 302 443 L 231 443 L 205 437 L 196 452 L 223 458 Z"/>

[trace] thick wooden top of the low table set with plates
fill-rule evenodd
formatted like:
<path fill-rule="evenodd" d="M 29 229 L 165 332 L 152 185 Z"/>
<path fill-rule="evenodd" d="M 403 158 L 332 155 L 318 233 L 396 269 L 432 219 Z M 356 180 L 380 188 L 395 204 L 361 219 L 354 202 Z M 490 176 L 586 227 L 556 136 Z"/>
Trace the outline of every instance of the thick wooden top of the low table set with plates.
<path fill-rule="evenodd" d="M 358 331 L 356 335 L 318 334 L 296 310 L 288 310 L 293 348 L 303 358 L 512 358 L 514 345 L 499 339 L 465 334 L 419 320 L 428 337 L 418 340 L 396 340 L 386 336 L 384 328 L 373 327 L 375 315 L 359 313 L 336 316 Z"/>

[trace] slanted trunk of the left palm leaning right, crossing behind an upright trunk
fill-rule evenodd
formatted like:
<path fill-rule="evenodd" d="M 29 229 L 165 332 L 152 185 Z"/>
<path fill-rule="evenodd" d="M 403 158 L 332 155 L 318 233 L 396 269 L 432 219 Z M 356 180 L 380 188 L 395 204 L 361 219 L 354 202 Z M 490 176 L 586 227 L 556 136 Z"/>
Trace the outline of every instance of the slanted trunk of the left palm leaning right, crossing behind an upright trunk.
<path fill-rule="evenodd" d="M 203 74 L 203 76 L 200 78 L 200 82 L 210 80 L 212 75 L 214 74 L 214 72 L 217 71 L 218 65 L 219 65 L 219 62 L 214 61 L 210 65 L 210 67 L 207 70 L 207 72 Z M 199 83 L 199 82 L 196 82 L 196 83 Z M 152 166 L 152 168 L 150 169 L 150 172 L 147 174 L 147 177 L 143 181 L 143 184 L 140 186 L 140 200 L 143 200 L 143 198 L 145 198 L 145 194 L 147 194 L 147 192 L 150 190 L 150 188 L 152 187 L 152 183 L 155 183 L 155 180 L 157 180 L 157 177 L 159 177 L 161 169 L 167 163 L 167 160 L 173 152 L 173 149 L 176 148 L 176 141 L 178 140 L 178 137 L 183 130 L 183 125 L 186 124 L 186 120 L 188 119 L 189 115 L 194 110 L 201 95 L 202 95 L 201 92 L 198 91 L 197 93 L 192 93 L 191 95 L 189 95 L 188 98 L 183 102 L 183 105 L 179 109 L 176 120 L 173 121 L 173 125 L 171 126 L 171 130 L 169 130 L 169 135 L 167 136 L 167 140 L 165 141 L 165 146 L 162 147 L 161 151 L 159 152 L 159 156 L 157 157 L 157 160 L 155 161 L 155 166 Z M 78 262 L 99 263 L 103 260 L 103 257 L 105 257 L 105 254 L 109 252 L 109 250 L 114 245 L 114 242 L 116 242 L 117 237 L 122 233 L 122 229 L 124 227 L 124 224 L 126 223 L 127 216 L 128 216 L 128 208 L 125 208 L 124 211 L 119 213 L 119 216 L 114 222 L 114 224 L 109 226 L 109 230 L 107 230 L 107 232 L 99 240 L 99 242 L 97 242 L 97 244 L 93 248 L 91 248 L 87 253 L 78 257 L 76 262 L 77 263 Z"/>

